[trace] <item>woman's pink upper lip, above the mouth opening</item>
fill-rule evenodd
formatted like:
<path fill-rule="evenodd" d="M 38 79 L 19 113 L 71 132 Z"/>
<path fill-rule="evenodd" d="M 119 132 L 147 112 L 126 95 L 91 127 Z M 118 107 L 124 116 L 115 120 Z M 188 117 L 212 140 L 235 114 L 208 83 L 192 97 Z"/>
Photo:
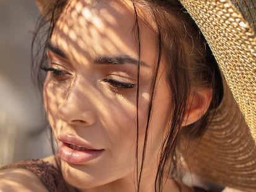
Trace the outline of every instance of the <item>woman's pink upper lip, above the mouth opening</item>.
<path fill-rule="evenodd" d="M 75 146 L 79 146 L 79 147 L 90 149 L 90 150 L 98 150 L 98 151 L 103 150 L 100 148 L 94 148 L 93 146 L 88 144 L 85 140 L 81 140 L 78 136 L 63 134 L 58 136 L 58 140 L 61 141 L 62 143 L 73 144 Z"/>

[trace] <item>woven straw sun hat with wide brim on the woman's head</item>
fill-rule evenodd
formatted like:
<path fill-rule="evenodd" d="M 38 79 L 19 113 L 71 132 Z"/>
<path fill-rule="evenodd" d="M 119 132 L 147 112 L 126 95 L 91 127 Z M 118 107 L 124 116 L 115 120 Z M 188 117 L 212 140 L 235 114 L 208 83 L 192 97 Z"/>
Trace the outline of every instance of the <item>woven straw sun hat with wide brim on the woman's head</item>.
<path fill-rule="evenodd" d="M 48 1 L 36 2 L 42 9 Z M 212 182 L 256 191 L 256 0 L 181 3 L 208 41 L 224 86 L 205 135 L 184 160 Z"/>

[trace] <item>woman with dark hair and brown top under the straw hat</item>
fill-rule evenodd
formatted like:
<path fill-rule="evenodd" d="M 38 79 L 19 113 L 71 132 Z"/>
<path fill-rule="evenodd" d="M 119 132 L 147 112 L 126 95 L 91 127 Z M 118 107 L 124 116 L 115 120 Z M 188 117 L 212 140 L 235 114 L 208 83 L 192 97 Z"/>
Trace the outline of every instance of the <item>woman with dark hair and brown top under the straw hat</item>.
<path fill-rule="evenodd" d="M 220 3 L 229 10 L 229 4 Z M 219 185 L 255 190 L 254 183 L 244 185 L 246 178 L 237 185 L 225 178 L 225 170 L 217 169 L 218 175 L 213 170 L 207 177 L 203 165 L 196 164 L 203 133 L 214 127 L 221 112 L 225 116 L 218 107 L 232 96 L 200 30 L 179 2 L 74 0 L 39 5 L 49 22 L 40 69 L 48 72 L 43 98 L 58 155 L 5 167 L 2 188 L 203 190 L 182 181 L 182 170 L 191 169 Z M 239 118 L 244 122 L 242 114 Z M 221 138 L 218 133 L 211 136 Z M 236 141 L 229 146 L 232 143 Z M 216 151 L 225 144 L 218 146 Z M 255 144 L 251 146 L 249 157 L 255 157 Z M 255 169 L 252 176 L 251 181 Z"/>

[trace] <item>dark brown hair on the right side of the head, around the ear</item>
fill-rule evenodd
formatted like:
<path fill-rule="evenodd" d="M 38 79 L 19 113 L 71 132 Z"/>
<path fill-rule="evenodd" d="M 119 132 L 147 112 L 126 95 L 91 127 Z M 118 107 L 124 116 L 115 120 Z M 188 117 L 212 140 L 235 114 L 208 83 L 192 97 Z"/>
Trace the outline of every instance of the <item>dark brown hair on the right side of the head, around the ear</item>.
<path fill-rule="evenodd" d="M 134 2 L 137 9 L 143 12 L 142 15 L 145 13 L 152 15 L 151 18 L 156 23 L 158 49 L 160 57 L 167 61 L 166 73 L 173 94 L 171 97 L 173 105 L 169 110 L 168 134 L 161 148 L 155 182 L 155 190 L 161 191 L 164 178 L 179 175 L 177 170 L 180 159 L 179 146 L 177 146 L 179 138 L 181 135 L 191 140 L 202 138 L 211 120 L 209 112 L 220 103 L 222 82 L 215 58 L 205 38 L 179 1 Z M 147 20 L 145 22 L 147 23 Z M 213 98 L 210 107 L 197 122 L 182 127 L 189 96 L 196 94 L 195 91 L 200 88 L 212 88 Z"/>

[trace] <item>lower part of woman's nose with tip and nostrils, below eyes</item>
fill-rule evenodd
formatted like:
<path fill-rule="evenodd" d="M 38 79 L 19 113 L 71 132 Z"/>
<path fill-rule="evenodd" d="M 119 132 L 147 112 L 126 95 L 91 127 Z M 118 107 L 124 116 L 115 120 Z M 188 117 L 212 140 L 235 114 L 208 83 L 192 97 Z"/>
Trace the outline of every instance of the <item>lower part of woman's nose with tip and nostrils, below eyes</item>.
<path fill-rule="evenodd" d="M 72 88 L 59 104 L 58 115 L 69 125 L 90 126 L 96 122 L 96 114 L 88 96 L 79 89 Z"/>

